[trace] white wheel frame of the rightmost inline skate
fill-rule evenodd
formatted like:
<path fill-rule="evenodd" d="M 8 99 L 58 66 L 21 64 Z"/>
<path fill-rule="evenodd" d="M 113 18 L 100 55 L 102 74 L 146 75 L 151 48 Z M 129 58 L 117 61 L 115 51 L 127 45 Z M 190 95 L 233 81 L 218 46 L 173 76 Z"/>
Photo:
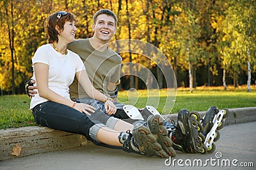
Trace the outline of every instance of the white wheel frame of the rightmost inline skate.
<path fill-rule="evenodd" d="M 219 113 L 217 113 L 213 120 L 212 120 L 212 123 L 213 123 L 213 126 L 211 128 L 211 131 L 207 134 L 206 138 L 205 138 L 205 146 L 209 152 L 209 150 L 211 150 L 212 147 L 214 147 L 214 138 L 215 138 L 215 133 L 216 133 L 216 129 L 218 128 L 219 124 L 221 123 L 221 120 L 223 118 L 223 115 L 226 114 L 226 111 L 227 110 L 220 110 Z M 214 145 L 214 146 L 212 146 Z M 214 149 L 215 150 L 215 149 Z M 212 151 L 213 152 L 213 151 Z"/>

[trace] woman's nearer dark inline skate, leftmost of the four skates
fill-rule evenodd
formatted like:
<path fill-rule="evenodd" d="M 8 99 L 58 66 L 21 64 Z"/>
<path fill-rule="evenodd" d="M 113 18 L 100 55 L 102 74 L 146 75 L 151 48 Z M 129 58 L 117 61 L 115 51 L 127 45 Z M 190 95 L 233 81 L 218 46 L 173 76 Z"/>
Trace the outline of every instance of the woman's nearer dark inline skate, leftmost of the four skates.
<path fill-rule="evenodd" d="M 125 152 L 147 156 L 156 155 L 162 158 L 169 157 L 161 148 L 161 145 L 157 143 L 156 138 L 150 130 L 141 124 L 134 126 L 132 134 L 130 131 L 121 132 L 118 139 L 123 144 L 123 150 Z"/>

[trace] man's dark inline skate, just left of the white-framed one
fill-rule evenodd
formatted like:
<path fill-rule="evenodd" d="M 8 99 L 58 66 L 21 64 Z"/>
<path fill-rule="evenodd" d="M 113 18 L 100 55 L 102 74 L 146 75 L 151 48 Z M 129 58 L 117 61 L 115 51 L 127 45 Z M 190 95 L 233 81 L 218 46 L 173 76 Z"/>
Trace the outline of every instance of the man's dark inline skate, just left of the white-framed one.
<path fill-rule="evenodd" d="M 188 153 L 205 153 L 204 136 L 200 133 L 202 125 L 199 123 L 200 115 L 196 111 L 186 109 L 178 113 L 177 126 L 170 135 L 173 148 Z"/>

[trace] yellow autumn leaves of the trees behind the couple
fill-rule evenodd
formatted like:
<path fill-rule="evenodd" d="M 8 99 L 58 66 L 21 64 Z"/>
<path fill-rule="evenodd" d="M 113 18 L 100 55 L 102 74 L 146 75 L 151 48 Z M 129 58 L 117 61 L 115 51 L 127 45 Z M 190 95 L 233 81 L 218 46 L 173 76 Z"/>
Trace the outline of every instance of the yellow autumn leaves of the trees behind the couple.
<path fill-rule="evenodd" d="M 6 16 L 4 2 L 8 10 Z M 10 2 L 14 3 L 13 18 L 10 13 Z M 148 41 L 156 45 L 170 62 L 174 63 L 175 60 L 176 69 L 188 69 L 188 52 L 189 59 L 193 60 L 197 66 L 207 63 L 205 58 L 208 57 L 213 64 L 215 64 L 214 60 L 220 60 L 222 65 L 230 67 L 230 63 L 234 60 L 243 64 L 243 60 L 247 57 L 248 46 L 256 49 L 255 34 L 248 36 L 249 28 L 255 28 L 255 22 L 252 22 L 255 19 L 255 9 L 250 8 L 248 2 L 216 1 L 216 4 L 212 6 L 211 1 L 203 0 L 173 1 L 172 3 L 166 0 L 154 0 L 148 1 L 147 9 L 147 1 L 127 1 L 128 6 L 126 6 L 126 1 L 122 0 L 122 8 L 118 11 L 119 2 L 117 0 L 52 0 L 36 1 L 36 3 L 26 0 L 0 1 L 0 11 L 3 14 L 1 17 L 3 22 L 0 24 L 1 87 L 5 90 L 10 90 L 12 87 L 10 84 L 12 81 L 10 42 L 14 41 L 12 50 L 15 52 L 13 53 L 15 83 L 19 85 L 23 81 L 22 78 L 31 76 L 32 71 L 28 69 L 31 67 L 31 56 L 38 46 L 45 43 L 45 18 L 58 10 L 72 11 L 76 14 L 79 18 L 77 38 L 87 38 L 93 34 L 93 13 L 100 8 L 112 9 L 118 16 L 118 30 L 112 40 L 127 39 L 130 32 L 132 39 Z M 188 3 L 191 4 L 188 5 Z M 254 2 L 252 4 L 255 6 Z M 13 31 L 15 31 L 13 35 L 7 25 L 9 24 L 9 28 L 12 29 L 12 23 L 14 24 Z M 128 23 L 131 24 L 130 30 Z M 255 32 L 254 29 L 253 32 Z M 143 50 L 140 49 L 138 52 L 143 53 Z M 253 61 L 252 68 L 255 68 L 255 52 L 250 55 Z M 198 56 L 206 57 L 203 59 Z M 127 53 L 122 57 L 124 62 L 129 61 Z M 145 64 L 148 67 L 156 65 L 157 55 L 153 59 L 148 66 L 145 57 L 132 54 L 133 62 Z M 216 66 L 211 67 L 212 74 L 217 74 Z"/>

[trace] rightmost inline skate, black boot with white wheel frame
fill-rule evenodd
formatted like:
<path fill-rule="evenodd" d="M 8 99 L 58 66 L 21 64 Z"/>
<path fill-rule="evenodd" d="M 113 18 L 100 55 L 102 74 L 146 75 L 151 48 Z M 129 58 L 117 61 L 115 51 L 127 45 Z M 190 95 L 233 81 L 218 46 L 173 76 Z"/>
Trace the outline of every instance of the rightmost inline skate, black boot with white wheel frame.
<path fill-rule="evenodd" d="M 220 139 L 219 130 L 224 127 L 228 113 L 227 109 L 218 110 L 216 106 L 212 106 L 202 118 L 201 123 L 204 129 L 202 134 L 205 136 L 204 144 L 208 153 L 212 153 L 216 149 L 215 142 Z"/>

